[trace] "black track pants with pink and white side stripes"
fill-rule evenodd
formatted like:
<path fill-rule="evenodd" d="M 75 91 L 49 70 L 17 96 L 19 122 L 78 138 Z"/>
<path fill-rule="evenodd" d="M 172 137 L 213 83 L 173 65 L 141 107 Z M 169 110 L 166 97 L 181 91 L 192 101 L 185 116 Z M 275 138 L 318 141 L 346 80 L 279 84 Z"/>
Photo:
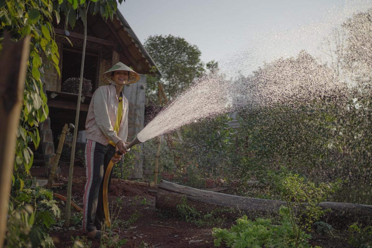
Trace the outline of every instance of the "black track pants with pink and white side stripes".
<path fill-rule="evenodd" d="M 103 178 L 110 159 L 115 154 L 115 147 L 104 146 L 93 140 L 87 140 L 85 146 L 87 183 L 83 198 L 83 232 L 100 230 L 105 223 L 103 211 Z M 112 171 L 109 178 L 109 187 Z"/>

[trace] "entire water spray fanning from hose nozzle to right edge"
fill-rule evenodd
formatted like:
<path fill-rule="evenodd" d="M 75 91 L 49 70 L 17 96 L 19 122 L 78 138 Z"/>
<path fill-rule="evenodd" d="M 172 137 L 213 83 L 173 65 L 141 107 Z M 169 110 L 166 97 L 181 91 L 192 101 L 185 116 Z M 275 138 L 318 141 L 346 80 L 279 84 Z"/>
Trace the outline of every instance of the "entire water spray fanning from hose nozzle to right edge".
<path fill-rule="evenodd" d="M 365 5 L 371 6 L 370 2 Z M 215 163 L 221 170 L 226 168 L 228 176 L 243 181 L 250 178 L 249 170 L 254 166 L 289 166 L 318 182 L 347 179 L 340 199 L 372 204 L 371 14 L 371 10 L 358 10 L 342 21 L 336 15 L 336 24 L 343 24 L 336 25 L 327 37 L 330 39 L 319 42 L 325 45 L 318 49 L 323 56 L 314 55 L 314 49 L 294 49 L 282 57 L 263 51 L 271 62 L 252 63 L 240 74 L 235 72 L 252 54 L 241 53 L 234 61 L 221 63 L 227 70 L 198 79 L 138 134 L 138 140 L 144 142 L 223 113 L 244 112 L 241 129 L 248 133 L 240 136 L 245 142 L 243 149 L 247 149 L 243 159 L 233 160 L 239 155 L 235 151 L 230 151 L 227 159 L 226 153 L 209 153 L 217 159 L 204 159 L 206 167 Z M 201 157 L 208 152 L 208 147 L 201 147 L 205 143 L 197 140 L 182 146 L 204 149 Z M 198 164 L 202 161 L 195 160 Z"/>

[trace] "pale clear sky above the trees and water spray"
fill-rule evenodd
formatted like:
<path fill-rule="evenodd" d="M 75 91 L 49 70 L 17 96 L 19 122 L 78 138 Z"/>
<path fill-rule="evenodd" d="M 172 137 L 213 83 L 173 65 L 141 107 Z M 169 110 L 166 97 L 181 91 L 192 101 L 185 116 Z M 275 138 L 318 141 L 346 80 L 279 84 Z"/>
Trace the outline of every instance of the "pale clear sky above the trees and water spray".
<path fill-rule="evenodd" d="M 301 49 L 320 54 L 323 37 L 371 7 L 372 0 L 126 0 L 119 10 L 142 43 L 180 36 L 198 46 L 203 62 L 248 74 Z"/>

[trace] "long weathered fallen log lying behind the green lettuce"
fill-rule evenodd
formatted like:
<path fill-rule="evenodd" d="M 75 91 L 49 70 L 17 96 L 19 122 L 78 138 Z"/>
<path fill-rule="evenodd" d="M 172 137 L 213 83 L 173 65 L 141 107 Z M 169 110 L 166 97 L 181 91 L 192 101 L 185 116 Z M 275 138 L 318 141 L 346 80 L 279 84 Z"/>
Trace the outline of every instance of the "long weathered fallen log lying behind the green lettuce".
<path fill-rule="evenodd" d="M 250 218 L 257 218 L 267 214 L 278 214 L 280 206 L 286 206 L 286 202 L 279 200 L 227 195 L 161 180 L 157 189 L 155 207 L 174 212 L 177 205 L 182 203 L 183 197 L 186 197 L 187 204 L 192 205 L 197 211 L 202 213 L 211 212 L 216 208 L 238 208 Z M 341 224 L 346 227 L 347 224 L 356 221 L 365 224 L 372 222 L 372 206 L 370 205 L 321 202 L 319 206 L 324 209 L 331 209 L 322 218 L 323 221 L 331 225 L 339 226 Z"/>

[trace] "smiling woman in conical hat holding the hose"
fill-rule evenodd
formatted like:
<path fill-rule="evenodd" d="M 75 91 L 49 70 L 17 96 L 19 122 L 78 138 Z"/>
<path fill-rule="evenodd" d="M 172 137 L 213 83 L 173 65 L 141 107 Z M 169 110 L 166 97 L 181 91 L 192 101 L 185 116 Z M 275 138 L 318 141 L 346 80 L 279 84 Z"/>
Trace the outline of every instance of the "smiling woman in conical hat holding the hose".
<path fill-rule="evenodd" d="M 140 75 L 119 62 L 102 74 L 100 79 L 108 85 L 94 92 L 85 123 L 87 183 L 83 198 L 83 232 L 93 239 L 101 238 L 100 230 L 105 223 L 102 179 L 115 150 L 123 154 L 127 151 L 128 100 L 122 89 L 124 85 L 140 80 Z M 111 176 L 112 172 L 109 186 Z"/>

